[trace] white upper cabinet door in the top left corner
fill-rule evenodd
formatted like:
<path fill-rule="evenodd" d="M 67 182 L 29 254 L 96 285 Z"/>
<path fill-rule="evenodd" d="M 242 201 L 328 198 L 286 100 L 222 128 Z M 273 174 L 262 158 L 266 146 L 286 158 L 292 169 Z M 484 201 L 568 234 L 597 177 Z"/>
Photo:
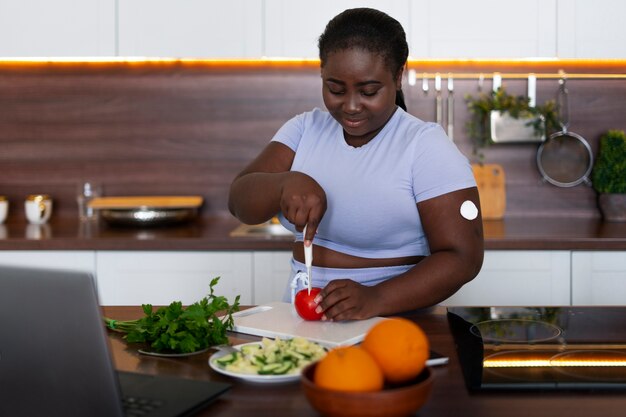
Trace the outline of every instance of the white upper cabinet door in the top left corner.
<path fill-rule="evenodd" d="M 114 56 L 115 4 L 115 0 L 2 1 L 0 56 Z"/>

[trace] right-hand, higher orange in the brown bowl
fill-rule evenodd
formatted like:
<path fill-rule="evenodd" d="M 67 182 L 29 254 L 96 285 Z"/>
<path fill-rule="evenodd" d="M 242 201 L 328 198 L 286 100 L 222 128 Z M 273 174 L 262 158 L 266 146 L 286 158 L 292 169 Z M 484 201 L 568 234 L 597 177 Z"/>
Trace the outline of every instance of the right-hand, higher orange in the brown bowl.
<path fill-rule="evenodd" d="M 376 323 L 361 347 L 376 360 L 391 383 L 408 381 L 422 372 L 429 355 L 428 338 L 414 322 L 392 318 Z"/>

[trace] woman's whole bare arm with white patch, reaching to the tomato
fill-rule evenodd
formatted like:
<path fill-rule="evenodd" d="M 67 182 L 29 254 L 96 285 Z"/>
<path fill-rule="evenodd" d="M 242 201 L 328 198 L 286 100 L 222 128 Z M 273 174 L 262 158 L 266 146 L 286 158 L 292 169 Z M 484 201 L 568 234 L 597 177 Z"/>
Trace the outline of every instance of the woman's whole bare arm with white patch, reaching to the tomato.
<path fill-rule="evenodd" d="M 366 287 L 336 280 L 322 290 L 320 307 L 329 320 L 365 319 L 435 305 L 454 294 L 480 271 L 484 255 L 482 217 L 461 216 L 461 204 L 480 207 L 477 188 L 420 202 L 431 254 L 406 273 Z"/>

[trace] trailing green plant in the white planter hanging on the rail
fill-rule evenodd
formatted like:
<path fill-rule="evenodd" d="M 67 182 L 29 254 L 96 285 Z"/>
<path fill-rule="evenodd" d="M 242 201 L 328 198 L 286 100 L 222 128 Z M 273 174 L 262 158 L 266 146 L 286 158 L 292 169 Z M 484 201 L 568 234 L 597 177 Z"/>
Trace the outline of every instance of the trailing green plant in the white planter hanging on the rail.
<path fill-rule="evenodd" d="M 559 121 L 554 100 L 546 101 L 543 106 L 530 106 L 530 99 L 526 96 L 508 94 L 503 87 L 490 93 L 482 93 L 477 98 L 465 96 L 470 120 L 467 122 L 467 132 L 473 141 L 473 154 L 482 161 L 484 155 L 480 149 L 493 144 L 491 138 L 490 113 L 493 110 L 508 112 L 512 117 L 531 118 L 528 122 L 537 134 L 550 135 L 558 129 Z"/>

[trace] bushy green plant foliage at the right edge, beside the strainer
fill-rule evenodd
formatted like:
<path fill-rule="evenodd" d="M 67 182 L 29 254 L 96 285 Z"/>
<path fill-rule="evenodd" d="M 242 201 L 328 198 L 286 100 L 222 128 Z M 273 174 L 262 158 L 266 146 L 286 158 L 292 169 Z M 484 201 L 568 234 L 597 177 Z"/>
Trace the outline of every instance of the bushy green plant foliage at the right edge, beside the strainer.
<path fill-rule="evenodd" d="M 600 138 L 591 179 L 599 193 L 626 193 L 626 134 L 623 130 L 609 130 Z"/>

